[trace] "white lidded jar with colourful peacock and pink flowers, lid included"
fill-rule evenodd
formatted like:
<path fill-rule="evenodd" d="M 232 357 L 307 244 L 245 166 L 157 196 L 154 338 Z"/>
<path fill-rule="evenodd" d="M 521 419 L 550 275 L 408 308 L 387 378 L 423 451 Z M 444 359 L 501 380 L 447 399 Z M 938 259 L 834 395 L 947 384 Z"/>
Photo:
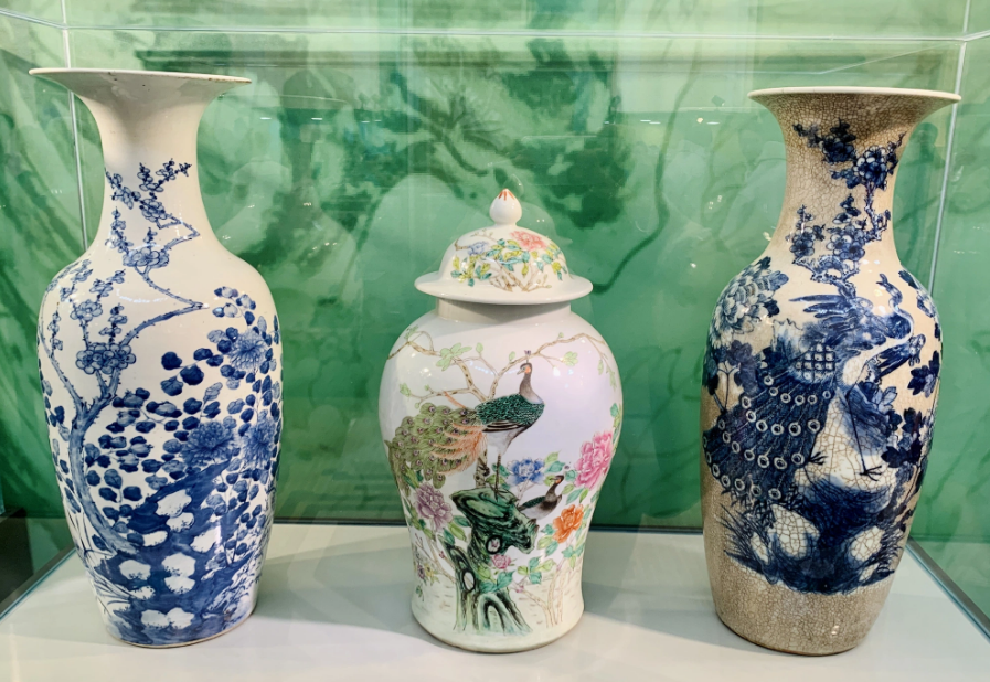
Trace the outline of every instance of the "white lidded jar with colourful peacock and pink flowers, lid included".
<path fill-rule="evenodd" d="M 396 341 L 379 403 L 413 544 L 413 614 L 437 639 L 521 651 L 573 628 L 595 503 L 622 423 L 615 358 L 571 311 L 592 290 L 518 226 L 458 238 L 416 288 L 437 306 Z"/>

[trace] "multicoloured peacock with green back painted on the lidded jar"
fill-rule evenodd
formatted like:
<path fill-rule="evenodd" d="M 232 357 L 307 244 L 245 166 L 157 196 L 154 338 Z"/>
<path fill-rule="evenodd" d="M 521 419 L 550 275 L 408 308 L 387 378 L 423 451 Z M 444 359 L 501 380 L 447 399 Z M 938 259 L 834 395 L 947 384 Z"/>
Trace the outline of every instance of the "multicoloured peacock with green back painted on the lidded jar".
<path fill-rule="evenodd" d="M 408 492 L 411 477 L 416 471 L 439 488 L 447 473 L 465 471 L 476 462 L 476 480 L 480 486 L 488 476 L 489 451 L 497 456 L 496 471 L 501 471 L 502 455 L 509 445 L 536 423 L 545 407 L 533 391 L 533 365 L 526 361 L 519 374 L 522 374 L 519 392 L 512 395 L 486 401 L 473 408 L 453 398 L 455 407 L 423 403 L 419 414 L 402 420 L 395 438 L 386 440 L 385 446 L 392 472 L 403 491 Z"/>

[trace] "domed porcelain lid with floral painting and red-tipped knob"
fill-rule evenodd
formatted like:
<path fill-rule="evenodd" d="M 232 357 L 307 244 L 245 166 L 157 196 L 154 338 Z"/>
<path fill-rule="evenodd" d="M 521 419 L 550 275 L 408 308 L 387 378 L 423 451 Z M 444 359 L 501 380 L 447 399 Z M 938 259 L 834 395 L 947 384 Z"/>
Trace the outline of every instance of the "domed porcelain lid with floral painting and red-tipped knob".
<path fill-rule="evenodd" d="M 508 306 L 558 303 L 590 294 L 592 283 L 571 274 L 553 241 L 515 224 L 522 206 L 512 192 L 502 190 L 488 214 L 494 225 L 454 242 L 440 270 L 416 279 L 417 289 L 437 298 Z"/>

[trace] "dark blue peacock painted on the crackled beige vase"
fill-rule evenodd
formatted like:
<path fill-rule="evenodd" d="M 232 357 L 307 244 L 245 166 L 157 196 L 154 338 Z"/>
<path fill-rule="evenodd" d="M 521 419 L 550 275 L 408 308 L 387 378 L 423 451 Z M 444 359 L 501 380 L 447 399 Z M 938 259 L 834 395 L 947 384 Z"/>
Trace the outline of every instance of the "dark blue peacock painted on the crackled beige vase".
<path fill-rule="evenodd" d="M 809 461 L 821 463 L 815 443 L 829 405 L 842 401 L 860 450 L 886 438 L 880 382 L 905 362 L 916 361 L 924 337 L 912 337 L 867 361 L 851 385 L 842 381 L 849 360 L 887 342 L 909 337 L 911 316 L 901 310 L 901 292 L 885 276 L 877 283 L 891 294 L 891 312 L 877 316 L 873 302 L 854 290 L 805 296 L 815 316 L 799 338 L 783 333 L 742 376 L 739 402 L 723 412 L 703 436 L 705 462 L 725 492 L 757 507 L 795 493 L 794 476 Z M 872 471 L 863 461 L 864 476 Z"/>

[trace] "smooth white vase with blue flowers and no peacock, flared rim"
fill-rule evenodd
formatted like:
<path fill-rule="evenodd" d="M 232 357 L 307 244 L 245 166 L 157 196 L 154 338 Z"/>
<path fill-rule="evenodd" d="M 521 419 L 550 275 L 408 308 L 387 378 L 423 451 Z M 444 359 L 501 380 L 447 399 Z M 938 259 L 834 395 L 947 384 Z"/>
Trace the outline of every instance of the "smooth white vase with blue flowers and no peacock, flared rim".
<path fill-rule="evenodd" d="M 91 109 L 106 164 L 89 248 L 49 285 L 38 356 L 58 487 L 110 633 L 221 635 L 254 608 L 281 433 L 268 288 L 213 235 L 196 128 L 248 83 L 34 70 Z"/>

